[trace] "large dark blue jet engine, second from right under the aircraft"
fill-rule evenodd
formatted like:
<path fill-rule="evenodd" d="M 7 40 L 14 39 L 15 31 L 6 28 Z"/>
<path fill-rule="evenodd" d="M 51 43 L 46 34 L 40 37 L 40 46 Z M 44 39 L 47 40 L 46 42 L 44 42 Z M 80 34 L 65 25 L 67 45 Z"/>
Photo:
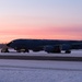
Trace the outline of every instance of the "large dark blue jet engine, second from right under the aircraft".
<path fill-rule="evenodd" d="M 59 45 L 57 45 L 57 46 L 45 46 L 44 50 L 47 52 L 57 52 L 57 54 L 61 52 L 61 48 Z"/>

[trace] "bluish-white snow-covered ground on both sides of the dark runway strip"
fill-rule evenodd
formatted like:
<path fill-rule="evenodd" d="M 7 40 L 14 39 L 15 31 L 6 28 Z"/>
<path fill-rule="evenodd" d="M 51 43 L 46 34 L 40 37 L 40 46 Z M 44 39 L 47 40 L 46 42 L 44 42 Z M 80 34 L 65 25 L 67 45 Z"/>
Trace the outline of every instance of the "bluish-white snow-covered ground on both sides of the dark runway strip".
<path fill-rule="evenodd" d="M 16 52 L 10 52 L 10 55 L 11 54 L 19 55 Z M 21 55 L 48 54 L 44 51 L 31 51 L 31 54 Z M 65 56 L 66 54 L 61 55 Z M 69 55 L 81 56 L 82 51 L 75 50 Z M 0 59 L 0 82 L 82 82 L 82 62 Z"/>

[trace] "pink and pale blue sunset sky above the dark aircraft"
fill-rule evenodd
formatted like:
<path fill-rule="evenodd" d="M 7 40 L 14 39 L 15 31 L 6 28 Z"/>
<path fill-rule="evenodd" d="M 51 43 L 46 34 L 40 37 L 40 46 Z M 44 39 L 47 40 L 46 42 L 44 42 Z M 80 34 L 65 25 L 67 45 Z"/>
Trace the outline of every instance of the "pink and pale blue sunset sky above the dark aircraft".
<path fill-rule="evenodd" d="M 16 38 L 82 40 L 82 0 L 0 0 L 0 43 Z"/>

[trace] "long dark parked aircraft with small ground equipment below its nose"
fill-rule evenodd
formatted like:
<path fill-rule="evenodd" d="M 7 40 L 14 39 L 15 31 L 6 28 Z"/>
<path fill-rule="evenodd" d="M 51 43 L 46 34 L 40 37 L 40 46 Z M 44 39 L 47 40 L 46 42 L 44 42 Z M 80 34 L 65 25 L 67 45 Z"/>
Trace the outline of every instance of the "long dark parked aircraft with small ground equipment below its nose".
<path fill-rule="evenodd" d="M 55 40 L 55 39 L 14 39 L 7 44 L 7 47 L 15 49 L 17 52 L 47 51 L 60 54 L 65 50 L 70 54 L 72 49 L 82 49 L 82 40 Z M 1 50 L 9 52 L 8 48 Z"/>

